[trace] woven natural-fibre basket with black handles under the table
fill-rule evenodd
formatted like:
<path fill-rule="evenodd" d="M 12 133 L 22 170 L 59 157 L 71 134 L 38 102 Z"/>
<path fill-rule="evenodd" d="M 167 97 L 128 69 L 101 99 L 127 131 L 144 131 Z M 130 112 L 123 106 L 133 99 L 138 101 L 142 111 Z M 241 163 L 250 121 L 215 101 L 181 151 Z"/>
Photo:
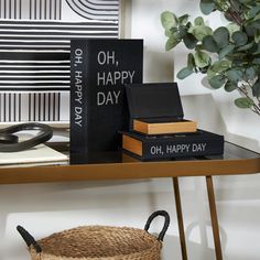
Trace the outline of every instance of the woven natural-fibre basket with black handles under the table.
<path fill-rule="evenodd" d="M 159 237 L 148 232 L 156 216 L 165 218 Z M 160 260 L 162 241 L 170 224 L 164 210 L 153 213 L 144 230 L 129 227 L 83 226 L 35 241 L 21 226 L 17 229 L 32 260 Z"/>

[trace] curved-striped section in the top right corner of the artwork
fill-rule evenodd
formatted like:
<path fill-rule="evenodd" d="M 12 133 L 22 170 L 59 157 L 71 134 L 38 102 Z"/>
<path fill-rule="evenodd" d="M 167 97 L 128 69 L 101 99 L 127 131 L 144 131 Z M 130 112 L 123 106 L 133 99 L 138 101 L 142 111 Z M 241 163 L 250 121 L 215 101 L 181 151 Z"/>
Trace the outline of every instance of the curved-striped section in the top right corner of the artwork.
<path fill-rule="evenodd" d="M 67 4 L 78 15 L 93 20 L 117 20 L 118 1 L 113 0 L 66 0 Z"/>

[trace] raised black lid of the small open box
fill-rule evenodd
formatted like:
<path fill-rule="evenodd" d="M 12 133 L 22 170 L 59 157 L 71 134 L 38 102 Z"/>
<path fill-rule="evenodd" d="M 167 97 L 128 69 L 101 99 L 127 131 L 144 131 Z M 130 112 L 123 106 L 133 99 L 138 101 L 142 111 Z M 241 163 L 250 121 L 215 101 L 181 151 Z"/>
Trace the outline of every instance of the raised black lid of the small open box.
<path fill-rule="evenodd" d="M 183 107 L 176 83 L 127 84 L 131 119 L 183 119 Z"/>

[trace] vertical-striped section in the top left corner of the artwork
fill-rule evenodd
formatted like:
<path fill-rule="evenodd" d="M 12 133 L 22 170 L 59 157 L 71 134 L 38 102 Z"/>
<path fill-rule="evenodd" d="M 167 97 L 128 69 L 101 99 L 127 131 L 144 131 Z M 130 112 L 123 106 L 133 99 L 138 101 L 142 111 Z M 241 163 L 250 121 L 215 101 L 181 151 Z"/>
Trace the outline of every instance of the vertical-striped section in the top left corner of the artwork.
<path fill-rule="evenodd" d="M 61 20 L 62 0 L 0 0 L 0 19 Z"/>

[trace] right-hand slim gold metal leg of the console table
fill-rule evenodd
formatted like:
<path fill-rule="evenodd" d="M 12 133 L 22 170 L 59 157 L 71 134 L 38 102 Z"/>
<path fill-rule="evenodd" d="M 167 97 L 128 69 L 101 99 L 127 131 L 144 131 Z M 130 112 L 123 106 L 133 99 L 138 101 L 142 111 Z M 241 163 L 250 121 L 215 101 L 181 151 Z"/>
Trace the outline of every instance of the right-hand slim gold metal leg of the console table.
<path fill-rule="evenodd" d="M 210 216 L 212 216 L 213 237 L 214 237 L 214 243 L 215 243 L 216 259 L 223 260 L 223 251 L 221 251 L 221 242 L 220 242 L 220 237 L 219 237 L 219 228 L 218 228 L 217 209 L 216 209 L 215 195 L 214 195 L 213 177 L 206 176 L 206 182 L 207 182 L 209 209 L 210 209 Z"/>

